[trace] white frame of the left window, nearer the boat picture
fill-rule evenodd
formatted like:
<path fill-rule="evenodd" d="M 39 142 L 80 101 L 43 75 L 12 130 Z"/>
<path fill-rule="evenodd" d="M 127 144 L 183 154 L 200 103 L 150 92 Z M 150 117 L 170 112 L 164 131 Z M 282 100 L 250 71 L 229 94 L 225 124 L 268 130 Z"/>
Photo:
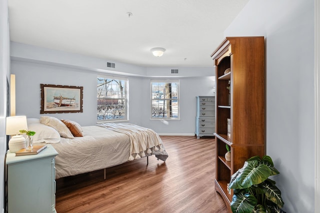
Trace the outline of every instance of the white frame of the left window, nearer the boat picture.
<path fill-rule="evenodd" d="M 124 100 L 124 118 L 113 118 L 113 119 L 103 119 L 103 120 L 98 120 L 96 117 L 96 122 L 97 124 L 99 123 L 107 123 L 107 122 L 123 122 L 123 121 L 128 121 L 129 119 L 129 79 L 126 77 L 119 77 L 119 76 L 112 76 L 112 75 L 97 75 L 96 79 L 98 78 L 104 78 L 104 79 L 111 79 L 111 80 L 121 80 L 125 82 L 125 86 L 123 87 L 125 94 L 124 94 L 124 98 L 107 98 L 105 97 L 105 99 L 107 100 L 119 100 L 119 99 L 123 99 Z M 96 81 L 96 86 L 98 86 L 97 81 Z M 97 90 L 96 90 L 97 92 Z M 97 93 L 96 93 L 97 96 Z M 96 97 L 96 110 L 98 107 L 98 97 Z"/>

